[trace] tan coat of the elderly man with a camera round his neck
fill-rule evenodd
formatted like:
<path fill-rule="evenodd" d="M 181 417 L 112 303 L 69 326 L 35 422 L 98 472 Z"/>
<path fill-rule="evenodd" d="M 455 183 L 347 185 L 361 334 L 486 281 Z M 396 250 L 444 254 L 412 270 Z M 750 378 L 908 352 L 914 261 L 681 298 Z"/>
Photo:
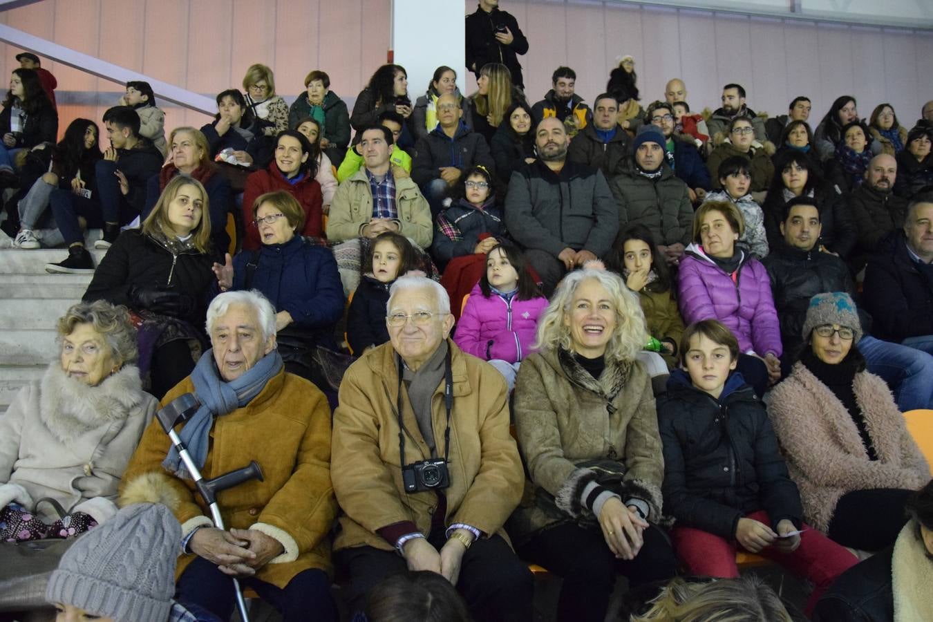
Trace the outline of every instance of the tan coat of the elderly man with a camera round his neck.
<path fill-rule="evenodd" d="M 502 375 L 467 355 L 453 341 L 451 412 L 451 485 L 444 490 L 444 524 L 465 523 L 485 535 L 499 533 L 522 497 L 522 461 L 508 432 L 508 391 Z M 383 343 L 357 360 L 343 376 L 340 406 L 334 413 L 334 491 L 343 514 L 334 549 L 373 546 L 392 550 L 377 530 L 411 521 L 417 531 L 431 530 L 438 505 L 432 491 L 406 493 L 398 452 L 397 355 Z M 431 399 L 431 420 L 438 452 L 446 427 L 444 383 Z M 403 393 L 405 462 L 431 457 L 414 412 Z"/>

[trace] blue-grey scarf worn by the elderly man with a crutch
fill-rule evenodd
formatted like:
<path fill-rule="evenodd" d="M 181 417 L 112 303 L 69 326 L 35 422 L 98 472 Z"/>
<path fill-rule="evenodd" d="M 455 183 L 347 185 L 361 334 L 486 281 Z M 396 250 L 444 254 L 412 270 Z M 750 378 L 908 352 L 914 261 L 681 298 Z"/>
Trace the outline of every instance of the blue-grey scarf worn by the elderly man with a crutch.
<path fill-rule="evenodd" d="M 194 394 L 201 402 L 201 408 L 185 423 L 185 427 L 178 433 L 181 442 L 188 448 L 191 459 L 199 468 L 207 460 L 207 446 L 211 432 L 211 425 L 215 417 L 230 414 L 237 408 L 243 408 L 261 392 L 269 380 L 282 370 L 284 363 L 278 350 L 272 350 L 259 362 L 247 369 L 240 378 L 225 382 L 217 372 L 214 362 L 214 350 L 202 354 L 198 365 L 191 372 L 191 381 L 194 382 Z M 185 463 L 174 445 L 162 461 L 162 466 L 174 473 L 176 477 L 192 479 Z"/>

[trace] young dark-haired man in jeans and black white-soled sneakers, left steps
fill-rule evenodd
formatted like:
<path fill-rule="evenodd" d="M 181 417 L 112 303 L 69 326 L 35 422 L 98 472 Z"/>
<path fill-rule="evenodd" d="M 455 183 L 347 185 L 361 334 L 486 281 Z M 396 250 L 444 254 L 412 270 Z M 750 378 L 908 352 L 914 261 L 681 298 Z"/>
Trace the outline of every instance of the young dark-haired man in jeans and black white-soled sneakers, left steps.
<path fill-rule="evenodd" d="M 84 233 L 78 217 L 85 219 L 87 228 L 104 228 L 104 238 L 94 242 L 94 247 L 105 249 L 117 240 L 120 226 L 142 214 L 146 205 L 146 183 L 159 173 L 162 155 L 139 135 L 139 125 L 139 115 L 131 106 L 108 108 L 104 113 L 104 127 L 110 146 L 104 151 L 104 159 L 98 160 L 94 167 L 97 196 L 83 187 L 52 190 L 49 207 L 68 244 L 68 257 L 47 264 L 46 271 L 94 271 L 91 254 L 84 248 Z"/>

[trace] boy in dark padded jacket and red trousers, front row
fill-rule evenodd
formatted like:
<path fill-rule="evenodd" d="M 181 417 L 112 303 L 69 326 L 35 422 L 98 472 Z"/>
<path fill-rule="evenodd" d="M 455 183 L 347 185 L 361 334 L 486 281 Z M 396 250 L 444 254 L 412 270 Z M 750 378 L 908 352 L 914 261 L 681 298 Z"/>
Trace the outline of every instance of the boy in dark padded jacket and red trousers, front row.
<path fill-rule="evenodd" d="M 689 325 L 683 366 L 658 404 L 664 509 L 690 574 L 737 577 L 735 550 L 780 563 L 815 584 L 807 614 L 856 557 L 804 524 L 797 485 L 768 413 L 735 369 L 739 344 L 717 320 Z"/>

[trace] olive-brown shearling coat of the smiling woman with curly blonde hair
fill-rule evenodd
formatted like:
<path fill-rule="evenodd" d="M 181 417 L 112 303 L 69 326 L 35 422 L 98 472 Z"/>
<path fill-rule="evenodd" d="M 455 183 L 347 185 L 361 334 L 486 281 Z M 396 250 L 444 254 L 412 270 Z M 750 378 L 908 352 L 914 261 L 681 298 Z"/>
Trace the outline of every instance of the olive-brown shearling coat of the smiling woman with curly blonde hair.
<path fill-rule="evenodd" d="M 587 514 L 592 518 L 581 493 L 596 474 L 578 464 L 597 459 L 623 465 L 623 503 L 637 500 L 647 505 L 649 521 L 661 519 L 661 435 L 651 380 L 641 363 L 606 361 L 595 380 L 569 352 L 535 352 L 519 368 L 514 413 L 530 477 L 509 521 L 516 541 Z M 560 514 L 541 503 L 547 495 Z"/>

